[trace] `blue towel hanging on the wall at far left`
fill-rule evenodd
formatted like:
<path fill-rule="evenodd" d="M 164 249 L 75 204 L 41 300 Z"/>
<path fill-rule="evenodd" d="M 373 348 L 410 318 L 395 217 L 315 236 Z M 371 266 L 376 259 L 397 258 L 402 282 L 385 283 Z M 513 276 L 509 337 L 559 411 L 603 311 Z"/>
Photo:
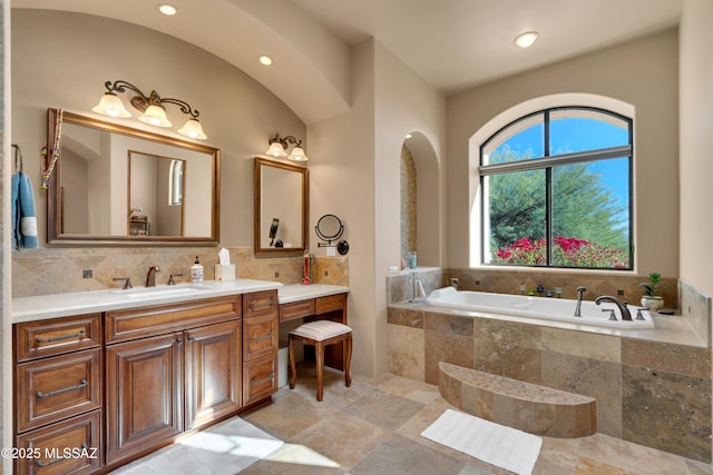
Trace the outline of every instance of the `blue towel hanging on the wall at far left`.
<path fill-rule="evenodd" d="M 35 192 L 30 177 L 22 171 L 12 175 L 12 247 L 33 249 L 38 247 Z"/>

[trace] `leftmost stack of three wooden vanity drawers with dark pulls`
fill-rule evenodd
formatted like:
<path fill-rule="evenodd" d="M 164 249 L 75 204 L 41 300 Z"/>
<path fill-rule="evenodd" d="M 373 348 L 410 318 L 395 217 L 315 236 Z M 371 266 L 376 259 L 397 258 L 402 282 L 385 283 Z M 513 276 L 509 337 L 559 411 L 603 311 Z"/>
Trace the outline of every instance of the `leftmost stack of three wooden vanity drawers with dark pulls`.
<path fill-rule="evenodd" d="M 17 474 L 88 474 L 101 448 L 101 315 L 17 324 L 14 447 Z M 67 457 L 66 452 L 76 454 Z"/>

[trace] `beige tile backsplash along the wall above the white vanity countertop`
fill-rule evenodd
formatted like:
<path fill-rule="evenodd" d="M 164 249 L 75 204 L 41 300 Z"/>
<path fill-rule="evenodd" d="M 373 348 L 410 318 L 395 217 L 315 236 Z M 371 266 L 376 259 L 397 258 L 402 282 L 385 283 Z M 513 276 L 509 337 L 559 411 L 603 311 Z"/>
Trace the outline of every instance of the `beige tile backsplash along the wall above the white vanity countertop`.
<path fill-rule="evenodd" d="M 12 256 L 12 297 L 99 290 L 120 286 L 115 277 L 129 277 L 143 286 L 149 266 L 158 266 L 156 284 L 174 274 L 176 283 L 188 281 L 188 269 L 198 256 L 205 279 L 214 279 L 221 247 L 127 247 L 127 248 L 41 248 L 23 249 Z M 255 258 L 250 247 L 227 247 L 238 278 L 302 283 L 302 257 Z M 91 270 L 92 277 L 84 278 Z M 349 285 L 349 259 L 318 257 L 314 281 Z"/>

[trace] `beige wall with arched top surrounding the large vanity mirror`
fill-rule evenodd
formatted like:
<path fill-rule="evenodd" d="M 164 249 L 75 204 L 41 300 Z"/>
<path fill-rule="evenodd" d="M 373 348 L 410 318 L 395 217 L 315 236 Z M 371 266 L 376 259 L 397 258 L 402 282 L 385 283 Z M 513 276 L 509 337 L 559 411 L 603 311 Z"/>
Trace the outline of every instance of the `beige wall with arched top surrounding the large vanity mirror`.
<path fill-rule="evenodd" d="M 208 140 L 221 149 L 221 243 L 253 241 L 253 158 L 275 132 L 305 137 L 305 126 L 272 92 L 217 57 L 152 30 L 105 18 L 45 10 L 12 10 L 12 123 L 26 167 L 39 189 L 40 147 L 48 107 L 96 116 L 91 108 L 107 80 L 124 79 L 155 89 L 201 111 Z M 128 93 L 121 95 L 128 106 Z M 166 107 L 170 129 L 131 119 L 120 123 L 163 135 L 176 133 L 186 116 Z M 135 112 L 131 110 L 131 112 Z M 119 119 L 117 119 L 119 121 Z M 309 154 L 309 149 L 307 149 Z M 36 190 L 38 222 L 45 222 L 45 195 Z M 40 227 L 40 243 L 45 243 Z"/>

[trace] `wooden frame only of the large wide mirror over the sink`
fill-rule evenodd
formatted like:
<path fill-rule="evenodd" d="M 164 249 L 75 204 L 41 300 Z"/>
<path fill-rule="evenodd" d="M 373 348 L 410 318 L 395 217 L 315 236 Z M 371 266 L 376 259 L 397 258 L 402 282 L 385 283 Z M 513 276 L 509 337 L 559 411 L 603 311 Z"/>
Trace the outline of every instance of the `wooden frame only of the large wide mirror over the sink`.
<path fill-rule="evenodd" d="M 59 115 L 58 109 L 47 110 L 47 144 L 55 142 L 55 123 Z M 174 146 L 187 150 L 207 154 L 213 157 L 212 164 L 212 204 L 211 207 L 211 236 L 110 236 L 110 235 L 82 235 L 62 234 L 61 224 L 61 158 L 57 160 L 55 171 L 49 179 L 47 192 L 47 244 L 50 246 L 215 246 L 219 239 L 221 216 L 221 150 L 203 144 L 195 144 L 178 138 L 162 136 L 147 130 L 135 129 L 99 119 L 80 116 L 72 112 L 62 112 L 62 123 L 70 122 L 111 133 L 120 133 L 133 138 L 145 139 L 158 144 Z M 61 146 L 61 144 L 60 144 Z M 50 152 L 48 152 L 49 155 Z M 128 215 L 127 215 L 128 217 Z"/>

